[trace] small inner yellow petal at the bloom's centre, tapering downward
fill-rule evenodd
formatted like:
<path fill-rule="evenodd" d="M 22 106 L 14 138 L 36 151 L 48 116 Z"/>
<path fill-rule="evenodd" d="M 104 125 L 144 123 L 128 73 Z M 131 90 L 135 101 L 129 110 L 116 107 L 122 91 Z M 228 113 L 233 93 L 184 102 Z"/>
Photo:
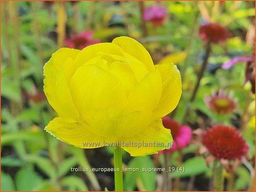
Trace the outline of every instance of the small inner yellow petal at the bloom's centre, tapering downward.
<path fill-rule="evenodd" d="M 121 62 L 113 62 L 109 67 L 109 72 L 114 74 L 121 81 L 126 95 L 130 93 L 130 90 L 138 84 L 133 71 L 130 69 L 129 64 Z"/>

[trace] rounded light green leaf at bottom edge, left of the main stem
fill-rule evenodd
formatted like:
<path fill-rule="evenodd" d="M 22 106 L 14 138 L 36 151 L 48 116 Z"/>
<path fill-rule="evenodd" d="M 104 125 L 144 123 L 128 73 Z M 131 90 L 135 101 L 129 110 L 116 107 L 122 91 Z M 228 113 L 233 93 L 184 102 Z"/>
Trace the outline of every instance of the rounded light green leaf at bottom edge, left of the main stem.
<path fill-rule="evenodd" d="M 61 180 L 60 184 L 64 187 L 68 187 L 69 191 L 88 191 L 85 182 L 77 176 L 68 176 Z"/>

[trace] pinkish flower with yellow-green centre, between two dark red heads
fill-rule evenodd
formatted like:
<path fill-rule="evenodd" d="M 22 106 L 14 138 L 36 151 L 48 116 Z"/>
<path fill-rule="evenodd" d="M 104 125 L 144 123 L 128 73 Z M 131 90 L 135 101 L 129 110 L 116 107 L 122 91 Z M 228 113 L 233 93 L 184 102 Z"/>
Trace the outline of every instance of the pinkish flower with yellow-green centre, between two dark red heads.
<path fill-rule="evenodd" d="M 237 109 L 237 99 L 232 99 L 233 92 L 229 95 L 223 90 L 219 90 L 218 94 L 213 91 L 212 96 L 205 95 L 204 102 L 209 109 L 218 114 L 228 114 Z"/>

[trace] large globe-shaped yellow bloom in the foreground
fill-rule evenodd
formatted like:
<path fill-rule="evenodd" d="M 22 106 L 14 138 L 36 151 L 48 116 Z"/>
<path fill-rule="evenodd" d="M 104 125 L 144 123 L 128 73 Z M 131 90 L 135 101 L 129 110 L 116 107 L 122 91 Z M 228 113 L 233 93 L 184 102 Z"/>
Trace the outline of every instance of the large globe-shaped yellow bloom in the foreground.
<path fill-rule="evenodd" d="M 62 48 L 44 66 L 44 92 L 59 117 L 45 130 L 80 148 L 119 147 L 131 156 L 170 148 L 162 117 L 181 97 L 174 64 L 154 66 L 136 40 Z"/>

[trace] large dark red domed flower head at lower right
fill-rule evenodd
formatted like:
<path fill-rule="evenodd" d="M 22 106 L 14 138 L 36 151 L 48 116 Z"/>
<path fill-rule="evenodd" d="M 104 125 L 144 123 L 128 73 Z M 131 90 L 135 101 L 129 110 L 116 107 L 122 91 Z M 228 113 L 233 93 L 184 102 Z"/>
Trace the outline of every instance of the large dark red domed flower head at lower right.
<path fill-rule="evenodd" d="M 249 150 L 242 134 L 224 125 L 208 128 L 202 135 L 202 142 L 217 159 L 241 159 Z"/>

